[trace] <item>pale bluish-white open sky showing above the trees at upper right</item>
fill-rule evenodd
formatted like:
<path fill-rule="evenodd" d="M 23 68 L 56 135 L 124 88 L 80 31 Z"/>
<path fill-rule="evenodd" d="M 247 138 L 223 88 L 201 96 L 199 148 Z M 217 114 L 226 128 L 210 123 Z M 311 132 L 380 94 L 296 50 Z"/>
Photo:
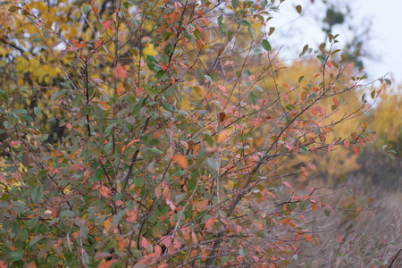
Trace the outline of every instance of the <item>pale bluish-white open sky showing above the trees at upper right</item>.
<path fill-rule="evenodd" d="M 364 29 L 369 27 L 370 40 L 366 48 L 373 54 L 373 59 L 364 60 L 364 70 L 369 80 L 376 80 L 387 75 L 394 84 L 402 84 L 402 1 L 384 0 L 328 0 L 328 2 L 343 6 L 348 3 L 351 7 L 352 24 Z M 302 15 L 298 15 L 295 6 L 301 4 Z M 295 59 L 303 46 L 317 47 L 323 42 L 324 34 L 318 21 L 325 15 L 322 4 L 315 0 L 286 0 L 280 8 L 280 13 L 273 14 L 271 21 L 275 34 L 281 37 L 273 40 L 276 46 L 283 47 L 281 57 Z M 370 25 L 371 22 L 371 25 Z M 333 29 L 339 33 L 339 43 L 350 38 L 350 32 L 339 27 Z M 274 37 L 275 35 L 272 35 Z"/>

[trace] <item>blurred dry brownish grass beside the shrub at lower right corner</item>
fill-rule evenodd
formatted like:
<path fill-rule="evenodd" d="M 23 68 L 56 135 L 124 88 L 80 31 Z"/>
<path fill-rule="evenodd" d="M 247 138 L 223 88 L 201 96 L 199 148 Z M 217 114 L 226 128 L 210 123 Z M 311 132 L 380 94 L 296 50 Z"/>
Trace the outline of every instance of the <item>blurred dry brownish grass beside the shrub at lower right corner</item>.
<path fill-rule="evenodd" d="M 350 186 L 353 194 L 338 192 L 336 214 L 309 215 L 318 245 L 302 245 L 289 267 L 402 267 L 401 182 L 389 189 L 359 179 Z"/>

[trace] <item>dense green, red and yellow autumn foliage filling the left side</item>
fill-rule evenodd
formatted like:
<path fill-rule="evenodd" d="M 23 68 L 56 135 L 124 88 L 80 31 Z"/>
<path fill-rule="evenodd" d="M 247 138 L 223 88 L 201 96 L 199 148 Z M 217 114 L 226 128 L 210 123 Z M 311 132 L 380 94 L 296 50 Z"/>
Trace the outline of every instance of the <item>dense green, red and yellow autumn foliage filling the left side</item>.
<path fill-rule="evenodd" d="M 0 90 L 12 266 L 289 264 L 317 241 L 304 214 L 336 213 L 320 188 L 293 188 L 316 169 L 298 155 L 373 140 L 365 123 L 332 135 L 367 106 L 344 108 L 364 77 L 337 36 L 312 71 L 284 75 L 270 43 L 281 3 L 2 4 L 18 29 Z"/>

